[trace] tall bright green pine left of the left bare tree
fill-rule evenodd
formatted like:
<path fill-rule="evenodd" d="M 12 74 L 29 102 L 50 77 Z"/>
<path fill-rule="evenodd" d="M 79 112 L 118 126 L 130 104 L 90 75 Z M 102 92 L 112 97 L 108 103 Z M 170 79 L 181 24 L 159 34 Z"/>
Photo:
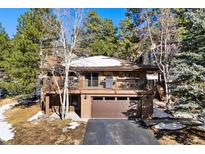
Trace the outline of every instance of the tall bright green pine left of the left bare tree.
<path fill-rule="evenodd" d="M 46 22 L 53 21 L 50 9 L 31 9 L 18 19 L 17 34 L 12 39 L 11 53 L 4 62 L 9 74 L 4 86 L 10 94 L 29 94 L 37 85 L 40 49 L 48 46 L 50 36 Z"/>

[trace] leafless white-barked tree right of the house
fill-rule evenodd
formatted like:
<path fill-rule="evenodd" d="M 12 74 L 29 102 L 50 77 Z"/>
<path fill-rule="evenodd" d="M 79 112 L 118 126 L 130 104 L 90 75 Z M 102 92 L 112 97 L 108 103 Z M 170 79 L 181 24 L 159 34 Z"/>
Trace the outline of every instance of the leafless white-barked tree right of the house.
<path fill-rule="evenodd" d="M 157 14 L 158 20 L 157 26 L 157 36 L 153 37 L 153 30 L 150 25 L 153 23 L 151 17 L 146 10 L 144 18 L 147 24 L 148 35 L 151 42 L 151 50 L 159 70 L 161 71 L 165 84 L 165 94 L 166 94 L 166 103 L 167 105 L 170 102 L 170 88 L 169 83 L 171 82 L 170 78 L 170 63 L 177 51 L 177 24 L 174 14 L 171 9 L 159 9 Z M 155 25 L 156 25 L 155 24 Z"/>

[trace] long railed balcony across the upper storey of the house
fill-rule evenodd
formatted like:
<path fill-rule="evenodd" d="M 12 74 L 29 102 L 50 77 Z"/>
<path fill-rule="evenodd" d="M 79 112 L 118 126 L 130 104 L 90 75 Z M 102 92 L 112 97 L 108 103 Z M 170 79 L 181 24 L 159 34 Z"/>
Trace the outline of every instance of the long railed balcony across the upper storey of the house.
<path fill-rule="evenodd" d="M 64 80 L 56 79 L 59 88 L 62 90 L 64 88 Z M 58 86 L 56 81 L 52 79 L 46 80 L 46 91 L 58 91 Z M 142 79 L 117 79 L 117 80 L 83 80 L 82 84 L 80 80 L 76 77 L 69 77 L 68 87 L 70 90 L 79 89 L 110 89 L 110 90 L 143 90 L 145 87 L 145 80 Z M 80 86 L 82 85 L 82 86 Z"/>

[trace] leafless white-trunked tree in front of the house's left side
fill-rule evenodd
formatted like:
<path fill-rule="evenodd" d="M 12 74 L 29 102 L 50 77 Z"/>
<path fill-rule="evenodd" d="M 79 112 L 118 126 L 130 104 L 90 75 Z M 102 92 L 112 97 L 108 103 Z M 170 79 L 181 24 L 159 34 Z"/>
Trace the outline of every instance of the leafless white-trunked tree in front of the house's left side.
<path fill-rule="evenodd" d="M 58 31 L 58 39 L 53 41 L 51 47 L 52 55 L 62 58 L 63 70 L 57 70 L 52 65 L 48 66 L 52 73 L 52 80 L 57 87 L 57 91 L 60 95 L 61 103 L 61 118 L 64 119 L 68 113 L 69 108 L 69 72 L 70 64 L 73 56 L 73 52 L 77 47 L 80 26 L 83 21 L 83 9 L 54 9 L 53 13 L 59 22 L 58 25 L 52 25 L 49 21 L 46 24 Z M 63 87 L 59 85 L 59 79 L 56 77 L 56 72 L 60 72 L 63 75 Z"/>

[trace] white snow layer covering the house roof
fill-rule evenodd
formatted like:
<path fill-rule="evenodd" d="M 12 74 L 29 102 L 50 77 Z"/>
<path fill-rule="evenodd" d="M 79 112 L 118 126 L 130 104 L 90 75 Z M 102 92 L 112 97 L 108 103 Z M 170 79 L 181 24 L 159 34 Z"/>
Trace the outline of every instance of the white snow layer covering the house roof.
<path fill-rule="evenodd" d="M 112 67 L 122 65 L 122 61 L 106 56 L 79 58 L 71 62 L 73 67 Z"/>

